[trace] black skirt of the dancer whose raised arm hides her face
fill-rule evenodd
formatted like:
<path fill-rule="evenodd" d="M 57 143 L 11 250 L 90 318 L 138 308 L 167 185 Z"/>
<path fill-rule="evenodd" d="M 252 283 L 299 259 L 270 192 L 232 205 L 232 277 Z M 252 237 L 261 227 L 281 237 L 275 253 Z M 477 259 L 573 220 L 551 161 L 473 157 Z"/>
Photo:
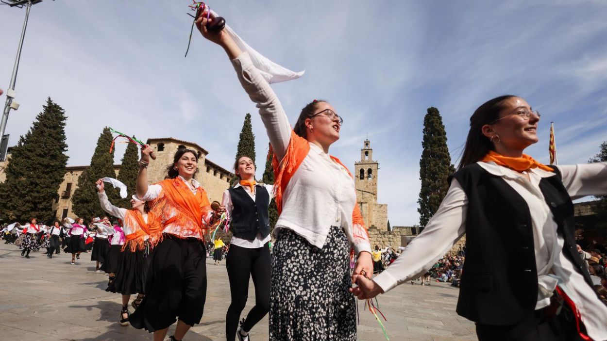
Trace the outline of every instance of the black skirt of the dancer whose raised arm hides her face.
<path fill-rule="evenodd" d="M 144 294 L 150 257 L 144 250 L 132 252 L 126 248 L 122 261 L 114 275 L 114 281 L 106 291 L 122 295 Z"/>

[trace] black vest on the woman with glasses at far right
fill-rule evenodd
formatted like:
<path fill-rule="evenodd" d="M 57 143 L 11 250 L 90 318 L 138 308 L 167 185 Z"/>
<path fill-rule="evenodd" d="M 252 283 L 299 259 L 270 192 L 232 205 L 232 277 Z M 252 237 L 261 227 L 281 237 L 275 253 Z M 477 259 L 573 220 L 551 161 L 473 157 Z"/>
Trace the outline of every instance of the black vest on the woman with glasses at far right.
<path fill-rule="evenodd" d="M 565 239 L 563 252 L 592 286 L 577 254 L 574 209 L 561 174 L 543 178 L 540 191 Z M 466 262 L 461 275 L 459 315 L 488 325 L 514 325 L 534 318 L 537 269 L 529 206 L 503 178 L 478 164 L 453 175 L 466 192 Z"/>

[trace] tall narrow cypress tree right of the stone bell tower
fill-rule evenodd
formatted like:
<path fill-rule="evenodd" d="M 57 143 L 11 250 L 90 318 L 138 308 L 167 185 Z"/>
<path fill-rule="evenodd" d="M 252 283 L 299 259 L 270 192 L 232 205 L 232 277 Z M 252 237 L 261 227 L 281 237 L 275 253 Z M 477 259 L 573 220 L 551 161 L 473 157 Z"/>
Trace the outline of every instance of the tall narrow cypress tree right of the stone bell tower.
<path fill-rule="evenodd" d="M 455 172 L 447 147 L 447 133 L 443 119 L 435 107 L 429 107 L 424 117 L 424 137 L 421 145 L 423 147 L 419 160 L 421 190 L 418 200 L 420 231 L 438 210 L 449 189 L 447 177 Z"/>

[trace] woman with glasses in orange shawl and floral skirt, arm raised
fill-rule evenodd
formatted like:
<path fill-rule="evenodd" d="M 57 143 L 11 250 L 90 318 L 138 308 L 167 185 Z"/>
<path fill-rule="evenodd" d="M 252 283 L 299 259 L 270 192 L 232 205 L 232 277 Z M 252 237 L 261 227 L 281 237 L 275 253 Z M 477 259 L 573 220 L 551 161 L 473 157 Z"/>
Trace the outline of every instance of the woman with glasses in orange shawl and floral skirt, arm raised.
<path fill-rule="evenodd" d="M 291 129 L 248 53 L 225 31 L 206 30 L 206 15 L 196 22 L 205 38 L 228 53 L 242 87 L 259 108 L 274 151 L 280 216 L 271 260 L 270 340 L 355 340 L 356 304 L 348 293 L 350 248 L 358 254 L 354 274 L 371 275 L 373 262 L 354 179 L 329 154 L 343 120 L 330 103 L 314 100 Z"/>

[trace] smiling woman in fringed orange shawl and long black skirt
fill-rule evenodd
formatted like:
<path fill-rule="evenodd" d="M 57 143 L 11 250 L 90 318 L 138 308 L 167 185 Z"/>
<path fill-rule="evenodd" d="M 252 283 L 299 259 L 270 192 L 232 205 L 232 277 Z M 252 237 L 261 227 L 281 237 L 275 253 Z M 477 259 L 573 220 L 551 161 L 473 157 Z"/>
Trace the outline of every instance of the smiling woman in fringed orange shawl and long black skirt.
<path fill-rule="evenodd" d="M 160 219 L 161 233 L 148 269 L 146 297 L 131 315 L 135 328 L 154 332 L 154 340 L 164 339 L 176 317 L 175 334 L 181 340 L 191 326 L 200 323 L 206 300 L 206 251 L 203 226 L 211 223 L 206 192 L 194 179 L 198 171 L 195 150 L 180 148 L 167 167 L 166 179 L 148 185 L 149 154 L 141 149 L 137 197 L 151 201 L 150 211 Z"/>

